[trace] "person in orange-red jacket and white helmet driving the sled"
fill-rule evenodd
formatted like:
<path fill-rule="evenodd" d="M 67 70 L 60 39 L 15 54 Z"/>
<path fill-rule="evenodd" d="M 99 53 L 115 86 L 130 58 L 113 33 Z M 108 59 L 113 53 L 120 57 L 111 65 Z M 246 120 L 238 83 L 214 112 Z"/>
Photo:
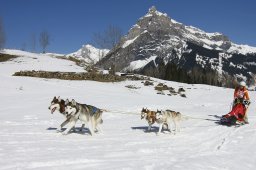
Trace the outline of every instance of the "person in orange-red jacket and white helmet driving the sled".
<path fill-rule="evenodd" d="M 246 83 L 244 81 L 239 83 L 239 86 L 235 88 L 234 92 L 234 104 L 235 106 L 238 102 L 243 102 L 244 100 L 250 101 L 248 90 L 246 89 Z M 248 122 L 247 108 L 245 107 L 244 123 Z"/>

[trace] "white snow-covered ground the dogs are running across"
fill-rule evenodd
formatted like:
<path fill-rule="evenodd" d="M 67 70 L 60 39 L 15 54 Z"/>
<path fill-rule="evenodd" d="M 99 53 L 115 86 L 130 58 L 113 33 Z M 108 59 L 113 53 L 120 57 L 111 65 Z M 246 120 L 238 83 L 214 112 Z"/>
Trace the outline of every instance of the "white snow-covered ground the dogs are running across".
<path fill-rule="evenodd" d="M 155 79 L 176 90 L 183 87 L 187 98 L 182 98 L 158 95 L 141 81 L 99 83 L 12 76 L 15 71 L 39 69 L 83 71 L 71 61 L 31 53 L 0 63 L 1 170 L 256 168 L 255 92 L 249 92 L 250 124 L 234 128 L 217 125 L 212 116 L 230 110 L 232 89 Z M 141 88 L 132 90 L 126 85 Z M 103 133 L 90 136 L 87 129 L 66 136 L 57 133 L 64 117 L 48 110 L 54 96 L 107 109 Z M 157 125 L 145 132 L 142 107 L 172 109 L 191 118 L 181 122 L 180 133 L 157 136 Z"/>

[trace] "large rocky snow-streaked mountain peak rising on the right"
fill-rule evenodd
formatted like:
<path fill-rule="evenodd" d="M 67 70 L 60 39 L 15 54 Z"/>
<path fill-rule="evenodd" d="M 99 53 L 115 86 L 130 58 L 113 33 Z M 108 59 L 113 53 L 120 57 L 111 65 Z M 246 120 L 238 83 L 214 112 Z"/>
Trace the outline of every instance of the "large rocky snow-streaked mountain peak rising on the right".
<path fill-rule="evenodd" d="M 161 63 L 175 63 L 187 72 L 198 67 L 250 79 L 256 74 L 256 47 L 186 26 L 152 7 L 98 65 L 109 68 L 113 63 L 117 70 L 141 73 L 155 72 L 152 68 Z"/>

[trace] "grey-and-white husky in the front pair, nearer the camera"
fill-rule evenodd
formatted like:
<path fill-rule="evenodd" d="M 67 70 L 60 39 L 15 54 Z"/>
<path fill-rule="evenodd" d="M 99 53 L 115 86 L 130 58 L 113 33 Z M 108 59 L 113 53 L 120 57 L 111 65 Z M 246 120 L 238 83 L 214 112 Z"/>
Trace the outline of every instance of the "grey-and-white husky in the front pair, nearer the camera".
<path fill-rule="evenodd" d="M 77 120 L 88 123 L 88 128 L 91 135 L 95 130 L 101 131 L 99 124 L 103 123 L 102 113 L 104 110 L 98 109 L 94 106 L 77 103 L 74 99 L 71 102 L 66 100 L 65 112 L 69 115 L 69 118 L 63 122 L 68 123 L 68 128 L 63 132 L 66 135 L 70 129 L 75 126 Z"/>

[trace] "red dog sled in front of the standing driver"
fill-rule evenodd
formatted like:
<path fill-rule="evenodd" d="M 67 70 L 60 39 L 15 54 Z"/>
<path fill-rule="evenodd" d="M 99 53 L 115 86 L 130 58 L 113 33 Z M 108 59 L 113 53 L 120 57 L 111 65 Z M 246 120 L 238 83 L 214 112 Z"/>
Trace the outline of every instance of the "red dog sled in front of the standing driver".
<path fill-rule="evenodd" d="M 220 124 L 221 125 L 227 125 L 227 126 L 232 126 L 232 125 L 244 125 L 245 121 L 245 114 L 246 110 L 250 105 L 249 100 L 245 99 L 235 99 L 233 102 L 233 107 L 232 110 L 226 114 L 223 115 L 220 118 Z"/>

